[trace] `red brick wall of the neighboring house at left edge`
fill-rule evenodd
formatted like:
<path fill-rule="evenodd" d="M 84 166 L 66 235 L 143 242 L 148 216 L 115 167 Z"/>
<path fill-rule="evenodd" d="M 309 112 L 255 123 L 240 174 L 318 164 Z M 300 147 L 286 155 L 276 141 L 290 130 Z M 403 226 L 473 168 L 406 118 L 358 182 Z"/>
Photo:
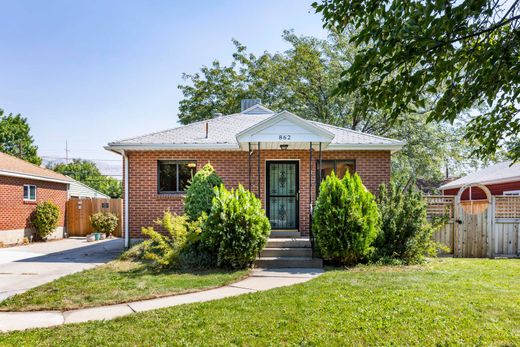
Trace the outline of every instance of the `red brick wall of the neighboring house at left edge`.
<path fill-rule="evenodd" d="M 23 200 L 23 185 L 36 186 L 36 202 Z M 30 216 L 36 204 L 52 201 L 60 208 L 58 226 L 64 226 L 67 185 L 25 178 L 0 176 L 0 230 L 30 228 Z"/>

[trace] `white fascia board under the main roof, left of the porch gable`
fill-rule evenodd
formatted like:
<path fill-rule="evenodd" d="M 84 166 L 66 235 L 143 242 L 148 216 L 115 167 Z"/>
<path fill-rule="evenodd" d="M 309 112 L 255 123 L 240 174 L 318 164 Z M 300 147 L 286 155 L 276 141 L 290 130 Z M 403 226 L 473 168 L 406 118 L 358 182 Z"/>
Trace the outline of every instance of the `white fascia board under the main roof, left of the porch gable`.
<path fill-rule="evenodd" d="M 240 150 L 237 144 L 232 143 L 164 143 L 164 144 L 109 144 L 107 151 L 122 154 L 121 151 L 161 151 L 161 150 L 195 150 L 220 151 Z"/>

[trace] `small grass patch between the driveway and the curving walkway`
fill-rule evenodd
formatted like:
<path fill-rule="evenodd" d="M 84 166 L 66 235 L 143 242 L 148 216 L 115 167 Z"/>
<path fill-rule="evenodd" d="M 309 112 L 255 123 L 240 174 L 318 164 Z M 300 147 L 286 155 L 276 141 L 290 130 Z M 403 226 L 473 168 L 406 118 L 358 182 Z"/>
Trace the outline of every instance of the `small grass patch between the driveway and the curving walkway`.
<path fill-rule="evenodd" d="M 115 260 L 33 288 L 0 302 L 0 311 L 70 310 L 157 298 L 220 287 L 248 271 L 153 272 L 144 264 Z"/>

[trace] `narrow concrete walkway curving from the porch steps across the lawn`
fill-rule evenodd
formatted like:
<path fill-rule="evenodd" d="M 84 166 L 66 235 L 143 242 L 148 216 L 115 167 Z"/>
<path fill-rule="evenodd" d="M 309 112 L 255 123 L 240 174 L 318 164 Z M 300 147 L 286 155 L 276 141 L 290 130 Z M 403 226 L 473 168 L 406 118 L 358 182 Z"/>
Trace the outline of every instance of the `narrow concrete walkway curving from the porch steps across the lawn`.
<path fill-rule="evenodd" d="M 197 293 L 167 296 L 72 311 L 0 312 L 0 331 L 43 328 L 91 320 L 113 319 L 134 312 L 218 300 L 306 282 L 323 273 L 322 269 L 255 269 L 250 277 L 234 284 Z"/>

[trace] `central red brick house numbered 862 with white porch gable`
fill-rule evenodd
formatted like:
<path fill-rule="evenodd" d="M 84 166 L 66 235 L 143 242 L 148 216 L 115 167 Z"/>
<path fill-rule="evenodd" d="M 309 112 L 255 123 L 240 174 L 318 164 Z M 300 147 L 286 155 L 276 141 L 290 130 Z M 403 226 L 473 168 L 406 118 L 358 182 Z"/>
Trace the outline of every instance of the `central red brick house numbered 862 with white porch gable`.
<path fill-rule="evenodd" d="M 375 192 L 390 180 L 391 153 L 402 145 L 253 104 L 237 114 L 112 142 L 106 149 L 123 156 L 128 240 L 141 237 L 141 227 L 152 225 L 164 210 L 182 213 L 189 180 L 208 162 L 228 188 L 241 183 L 262 200 L 273 234 L 308 235 L 320 177 L 332 170 L 340 176 L 355 171 Z"/>

